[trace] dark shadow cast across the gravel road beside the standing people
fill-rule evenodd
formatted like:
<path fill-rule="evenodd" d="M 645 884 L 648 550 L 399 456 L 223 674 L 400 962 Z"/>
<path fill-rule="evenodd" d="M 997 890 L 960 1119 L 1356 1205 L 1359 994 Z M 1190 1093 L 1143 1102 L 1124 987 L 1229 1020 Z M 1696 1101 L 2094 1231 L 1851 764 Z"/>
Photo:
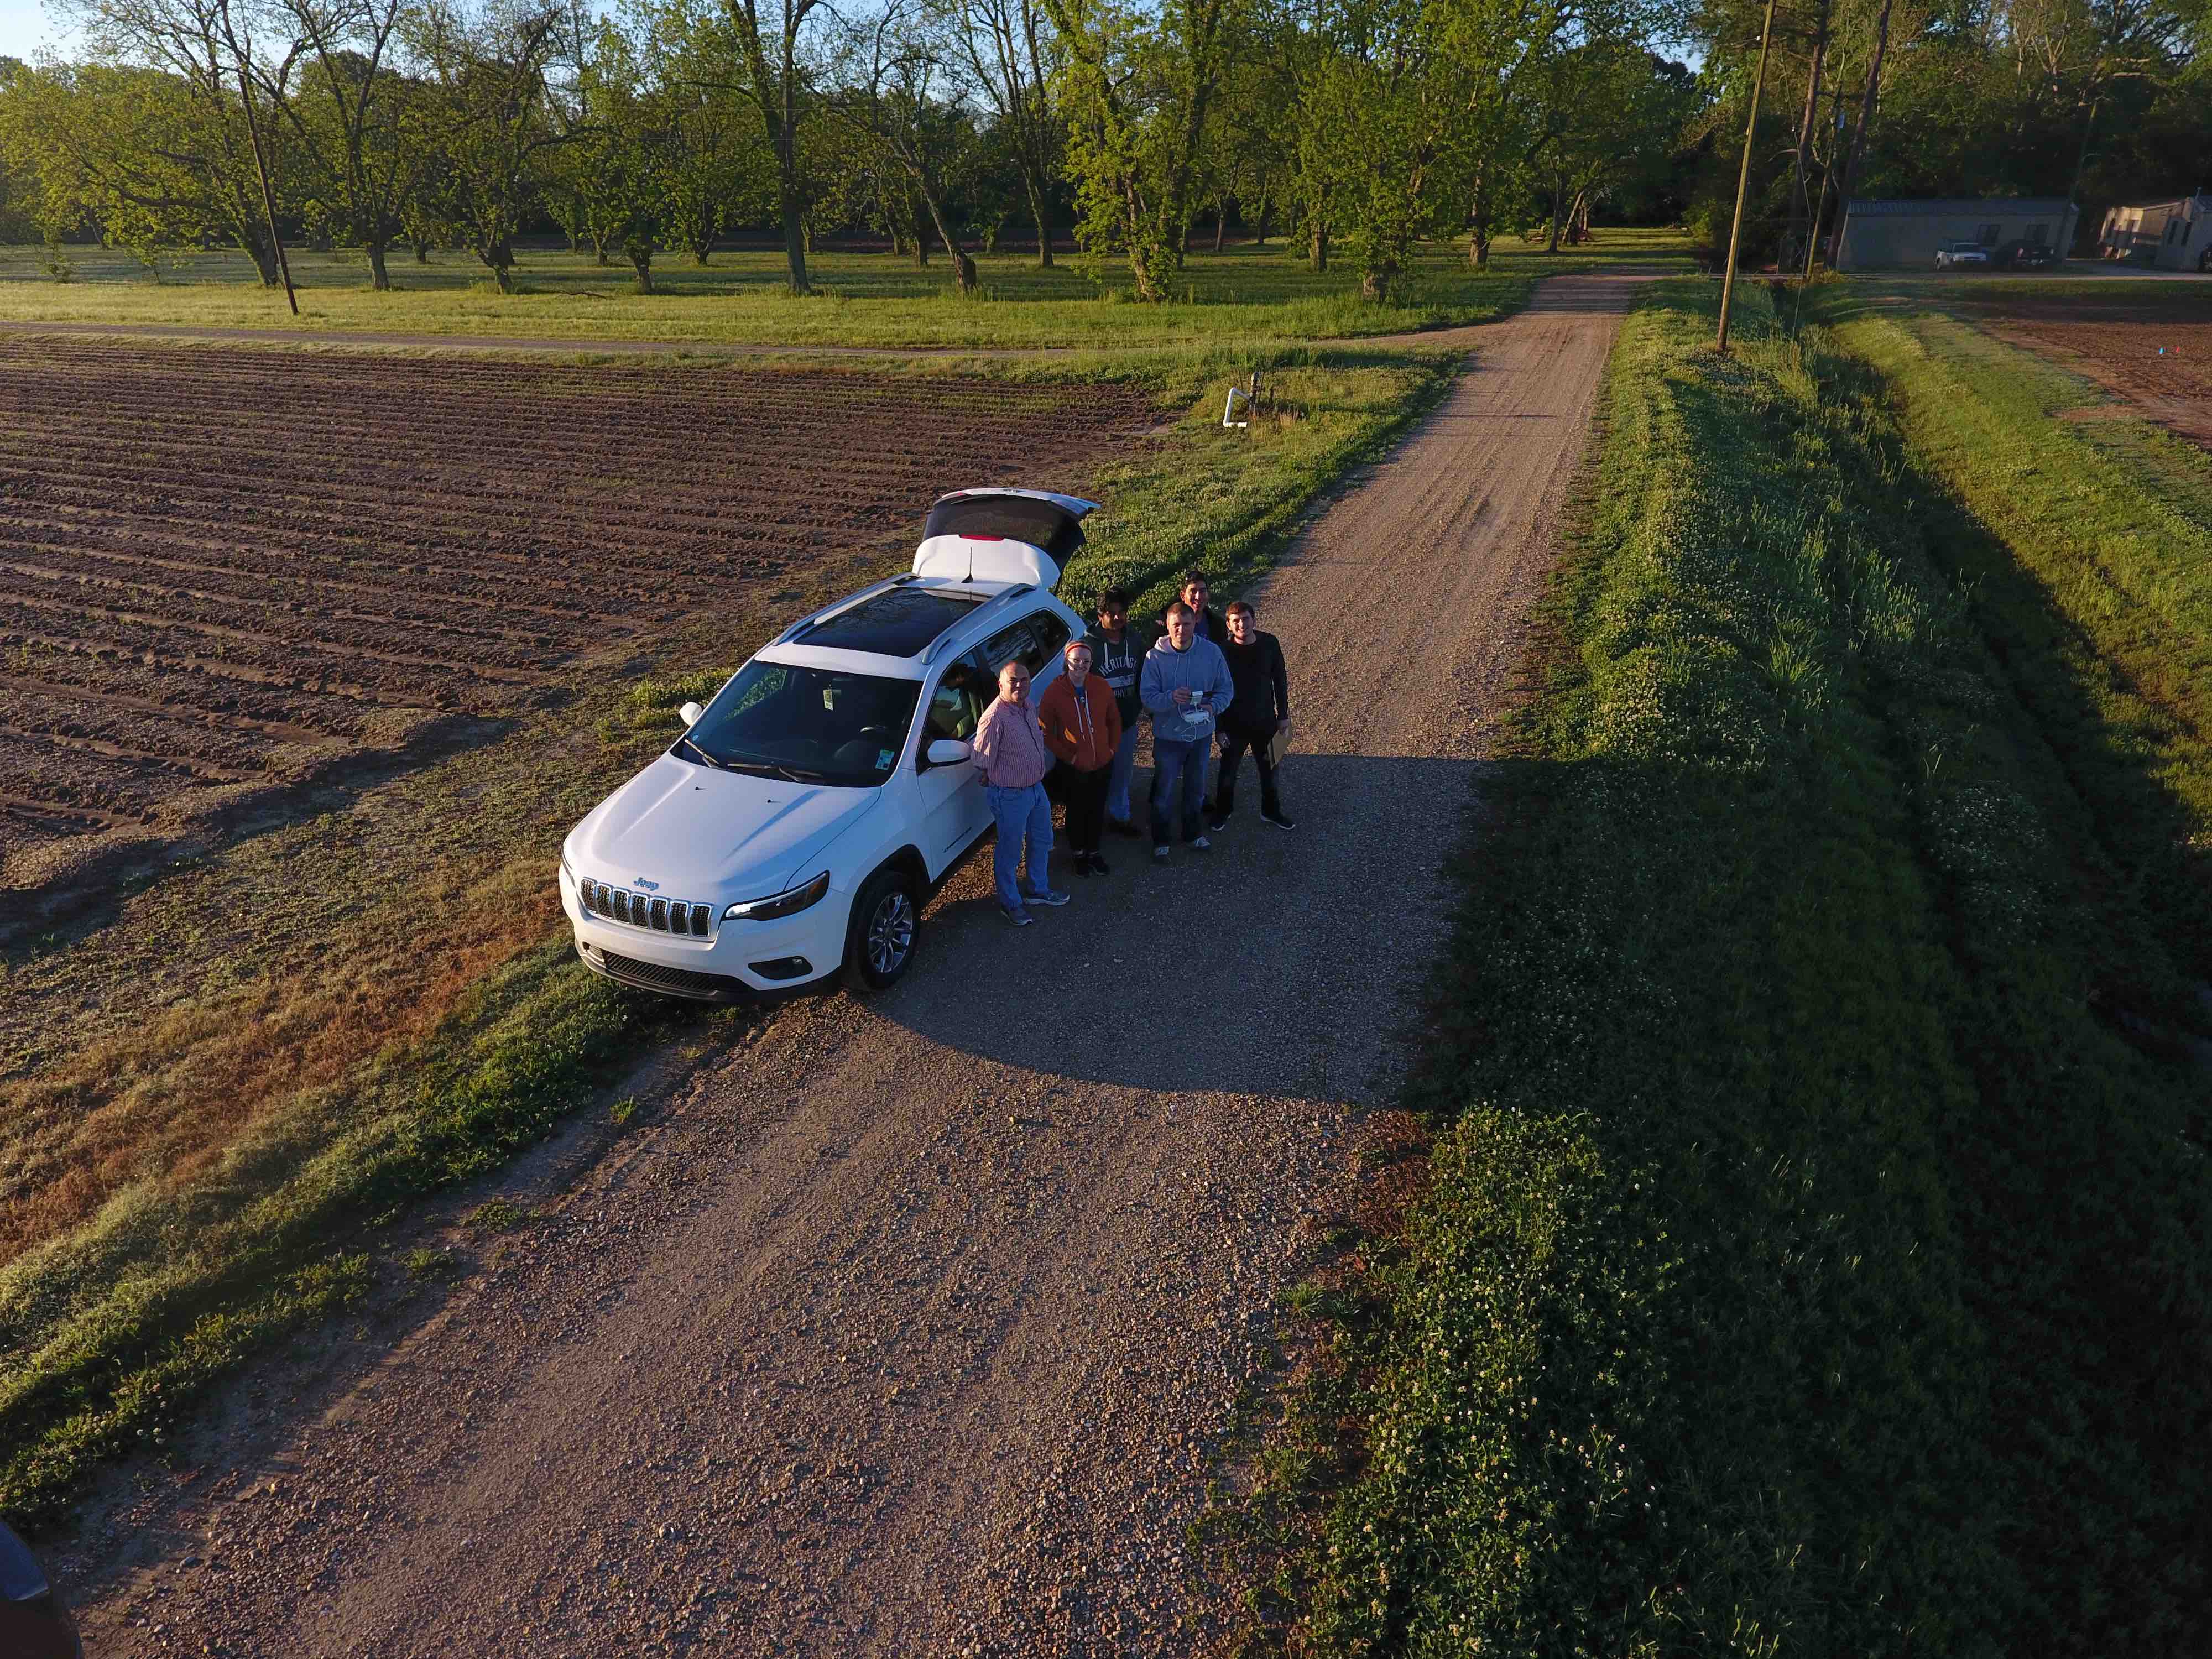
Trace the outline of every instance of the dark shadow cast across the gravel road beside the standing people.
<path fill-rule="evenodd" d="M 1363 1102 L 1374 1075 L 1336 1060 L 1402 1024 L 1447 925 L 1440 865 L 1471 805 L 1475 761 L 1292 754 L 1296 830 L 1259 818 L 1245 763 L 1237 816 L 1212 852 L 1108 834 L 1113 874 L 1006 927 L 991 845 L 938 900 L 925 956 L 867 1004 L 918 1042 L 1119 1088 Z M 1148 783 L 1137 772 L 1139 810 Z"/>

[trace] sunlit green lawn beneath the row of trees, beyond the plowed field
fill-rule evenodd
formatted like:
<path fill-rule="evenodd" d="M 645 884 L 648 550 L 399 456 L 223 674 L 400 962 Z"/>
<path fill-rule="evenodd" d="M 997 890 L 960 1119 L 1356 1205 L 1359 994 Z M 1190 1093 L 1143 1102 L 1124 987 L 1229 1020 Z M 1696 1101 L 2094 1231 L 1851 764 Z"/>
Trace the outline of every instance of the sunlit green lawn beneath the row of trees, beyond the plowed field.
<path fill-rule="evenodd" d="M 161 279 L 131 254 L 66 250 L 71 281 L 53 281 L 44 248 L 0 248 L 0 323 L 170 323 L 265 330 L 374 330 L 394 334 L 489 334 L 608 341 L 697 341 L 723 345 L 867 347 L 1190 347 L 1223 341 L 1316 341 L 1394 334 L 1447 323 L 1484 323 L 1517 307 L 1528 283 L 1555 270 L 1661 265 L 1688 270 L 1688 239 L 1666 230 L 1599 230 L 1599 241 L 1546 257 L 1498 243 L 1493 270 L 1475 274 L 1455 246 L 1413 261 L 1402 303 L 1367 305 L 1358 276 L 1327 272 L 1281 243 L 1192 252 L 1179 299 L 1137 305 L 1128 274 L 1102 281 L 1073 261 L 1037 270 L 1031 257 L 978 259 L 984 292 L 960 299 L 938 257 L 916 268 L 891 254 L 823 252 L 810 261 L 821 288 L 810 299 L 783 290 L 781 252 L 717 252 L 703 270 L 688 257 L 655 263 L 655 294 L 637 294 L 628 265 L 591 254 L 526 252 L 515 294 L 500 294 L 467 254 L 434 252 L 429 265 L 400 254 L 398 290 L 369 288 L 358 254 L 296 252 L 301 314 L 252 279 L 243 254 L 208 252 L 164 261 Z"/>

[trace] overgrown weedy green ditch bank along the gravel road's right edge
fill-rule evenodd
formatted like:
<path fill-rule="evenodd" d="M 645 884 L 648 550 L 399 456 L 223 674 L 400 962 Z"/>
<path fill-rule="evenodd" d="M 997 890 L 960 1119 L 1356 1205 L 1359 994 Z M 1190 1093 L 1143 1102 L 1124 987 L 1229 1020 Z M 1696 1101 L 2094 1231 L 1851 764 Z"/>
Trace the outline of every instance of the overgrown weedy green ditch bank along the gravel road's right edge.
<path fill-rule="evenodd" d="M 2097 803 L 1880 385 L 1739 294 L 1732 358 L 1668 283 L 1613 361 L 1301 1650 L 2179 1652 L 2205 1077 L 2099 1011 Z"/>

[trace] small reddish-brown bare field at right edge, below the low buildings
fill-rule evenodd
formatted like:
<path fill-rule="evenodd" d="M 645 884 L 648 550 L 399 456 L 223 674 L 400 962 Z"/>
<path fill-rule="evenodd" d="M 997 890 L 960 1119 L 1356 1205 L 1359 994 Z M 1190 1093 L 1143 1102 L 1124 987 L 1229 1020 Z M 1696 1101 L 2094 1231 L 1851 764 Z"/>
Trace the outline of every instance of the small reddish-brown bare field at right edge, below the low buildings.
<path fill-rule="evenodd" d="M 2088 376 L 2152 420 L 2212 447 L 2212 321 L 2203 290 L 2168 303 L 2026 301 L 1971 314 L 2000 338 Z"/>

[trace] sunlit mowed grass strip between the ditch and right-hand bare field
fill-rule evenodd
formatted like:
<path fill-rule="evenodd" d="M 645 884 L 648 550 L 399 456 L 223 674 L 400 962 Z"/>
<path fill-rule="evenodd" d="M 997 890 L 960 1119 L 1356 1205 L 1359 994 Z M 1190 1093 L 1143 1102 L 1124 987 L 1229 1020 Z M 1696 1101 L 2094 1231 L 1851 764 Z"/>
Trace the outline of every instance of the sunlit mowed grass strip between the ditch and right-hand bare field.
<path fill-rule="evenodd" d="M 1854 316 L 1836 336 L 1947 487 L 1929 549 L 2095 803 L 2086 832 L 2124 909 L 2212 982 L 2212 458 L 2143 418 L 2062 418 L 2112 405 L 1942 316 Z M 2154 338 L 2146 327 L 2146 352 Z M 2108 978 L 2128 978 L 2141 942 L 2112 940 Z"/>

